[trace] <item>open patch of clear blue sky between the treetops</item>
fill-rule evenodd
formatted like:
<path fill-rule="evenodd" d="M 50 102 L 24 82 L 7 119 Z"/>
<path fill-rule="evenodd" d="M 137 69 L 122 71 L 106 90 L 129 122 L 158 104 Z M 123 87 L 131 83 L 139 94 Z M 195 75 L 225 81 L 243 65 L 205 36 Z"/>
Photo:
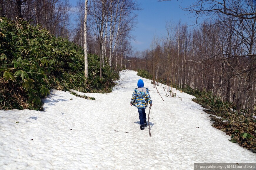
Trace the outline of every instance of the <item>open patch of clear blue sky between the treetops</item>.
<path fill-rule="evenodd" d="M 154 36 L 163 37 L 166 34 L 166 22 L 188 23 L 192 25 L 188 11 L 183 11 L 179 6 L 187 7 L 192 0 L 172 0 L 159 2 L 157 0 L 138 0 L 142 10 L 138 11 L 137 28 L 132 34 L 136 37 L 132 41 L 135 51 L 144 51 L 150 48 Z"/>

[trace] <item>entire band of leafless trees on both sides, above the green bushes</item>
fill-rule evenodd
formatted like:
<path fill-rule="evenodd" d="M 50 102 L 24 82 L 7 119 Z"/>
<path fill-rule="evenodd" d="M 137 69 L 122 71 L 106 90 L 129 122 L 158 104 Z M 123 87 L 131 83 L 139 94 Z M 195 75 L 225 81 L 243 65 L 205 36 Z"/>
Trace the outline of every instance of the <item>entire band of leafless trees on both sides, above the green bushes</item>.
<path fill-rule="evenodd" d="M 90 0 L 87 51 L 100 56 L 100 68 L 106 61 L 115 70 L 145 69 L 170 86 L 211 91 L 251 115 L 256 109 L 255 1 L 197 0 L 183 8 L 195 16 L 196 27 L 166 23 L 166 35 L 154 37 L 147 50 L 134 51 L 130 40 L 141 10 L 138 2 Z M 76 6 L 69 0 L 0 1 L 0 16 L 23 18 L 80 46 L 84 11 L 82 0 Z M 204 15 L 210 17 L 197 23 Z"/>

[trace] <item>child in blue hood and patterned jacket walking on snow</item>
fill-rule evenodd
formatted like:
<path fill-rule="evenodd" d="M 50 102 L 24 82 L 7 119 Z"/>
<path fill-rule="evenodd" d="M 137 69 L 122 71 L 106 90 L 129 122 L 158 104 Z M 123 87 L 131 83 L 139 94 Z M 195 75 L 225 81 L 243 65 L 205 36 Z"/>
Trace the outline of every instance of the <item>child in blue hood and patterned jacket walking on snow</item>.
<path fill-rule="evenodd" d="M 144 126 L 147 126 L 147 117 L 145 113 L 145 109 L 147 107 L 147 102 L 149 102 L 150 106 L 152 106 L 152 100 L 149 95 L 149 90 L 144 88 L 143 80 L 138 80 L 138 88 L 134 90 L 132 93 L 132 99 L 130 105 L 134 105 L 138 108 L 139 112 L 139 121 L 140 121 L 140 129 L 143 130 Z"/>

